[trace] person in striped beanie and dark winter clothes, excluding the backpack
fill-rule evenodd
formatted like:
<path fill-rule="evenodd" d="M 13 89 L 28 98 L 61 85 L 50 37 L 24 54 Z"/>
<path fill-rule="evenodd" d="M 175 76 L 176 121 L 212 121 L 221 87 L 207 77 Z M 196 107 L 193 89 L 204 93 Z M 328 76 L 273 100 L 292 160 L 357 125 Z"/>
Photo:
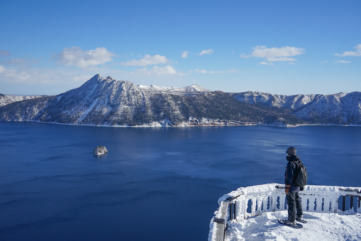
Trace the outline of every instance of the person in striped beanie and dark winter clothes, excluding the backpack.
<path fill-rule="evenodd" d="M 286 199 L 288 205 L 288 220 L 286 224 L 288 225 L 296 225 L 296 220 L 303 219 L 303 211 L 301 205 L 300 195 L 298 194 L 299 191 L 303 191 L 303 187 L 300 188 L 297 184 L 293 181 L 293 175 L 296 171 L 296 163 L 303 164 L 300 160 L 300 156 L 296 155 L 296 148 L 291 146 L 288 147 L 286 153 L 287 159 L 287 167 L 286 172 L 284 173 L 284 185 L 286 192 Z"/>

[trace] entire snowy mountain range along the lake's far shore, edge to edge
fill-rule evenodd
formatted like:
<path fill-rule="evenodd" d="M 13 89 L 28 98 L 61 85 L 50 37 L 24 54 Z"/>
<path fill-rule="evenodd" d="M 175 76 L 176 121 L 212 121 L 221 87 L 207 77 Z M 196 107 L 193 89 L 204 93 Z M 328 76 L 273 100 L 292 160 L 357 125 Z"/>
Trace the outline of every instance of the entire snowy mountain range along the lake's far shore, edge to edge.
<path fill-rule="evenodd" d="M 2 121 L 104 126 L 361 125 L 361 92 L 292 96 L 225 93 L 197 85 L 137 86 L 96 74 L 59 95 L 10 99 L 20 101 L 0 107 Z"/>

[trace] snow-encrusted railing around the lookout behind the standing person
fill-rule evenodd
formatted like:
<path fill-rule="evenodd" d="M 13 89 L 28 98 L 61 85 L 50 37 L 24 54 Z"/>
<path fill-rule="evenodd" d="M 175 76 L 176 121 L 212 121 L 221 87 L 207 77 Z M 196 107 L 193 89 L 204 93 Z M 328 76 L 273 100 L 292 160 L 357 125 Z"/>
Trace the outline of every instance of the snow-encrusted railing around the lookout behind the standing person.
<path fill-rule="evenodd" d="M 304 212 L 361 213 L 361 188 L 306 185 L 299 194 Z M 227 228 L 237 220 L 288 209 L 284 185 L 277 183 L 238 188 L 219 198 L 218 204 L 210 221 L 208 241 L 224 240 Z"/>

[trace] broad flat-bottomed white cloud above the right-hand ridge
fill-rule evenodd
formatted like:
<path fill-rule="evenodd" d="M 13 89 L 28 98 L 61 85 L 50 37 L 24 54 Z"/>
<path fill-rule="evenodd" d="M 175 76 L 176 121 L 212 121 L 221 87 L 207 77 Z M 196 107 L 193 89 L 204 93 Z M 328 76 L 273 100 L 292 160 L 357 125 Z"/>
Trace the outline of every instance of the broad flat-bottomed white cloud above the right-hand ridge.
<path fill-rule="evenodd" d="M 297 61 L 297 59 L 290 58 L 292 56 L 301 55 L 305 52 L 304 48 L 297 47 L 280 47 L 280 48 L 267 48 L 264 45 L 257 45 L 252 48 L 252 53 L 250 55 L 245 55 L 242 53 L 239 57 L 241 58 L 249 58 L 249 57 L 257 57 L 257 58 L 265 58 L 268 62 L 274 61 Z M 264 61 L 262 61 L 264 62 Z M 261 63 L 262 63 L 261 62 Z"/>

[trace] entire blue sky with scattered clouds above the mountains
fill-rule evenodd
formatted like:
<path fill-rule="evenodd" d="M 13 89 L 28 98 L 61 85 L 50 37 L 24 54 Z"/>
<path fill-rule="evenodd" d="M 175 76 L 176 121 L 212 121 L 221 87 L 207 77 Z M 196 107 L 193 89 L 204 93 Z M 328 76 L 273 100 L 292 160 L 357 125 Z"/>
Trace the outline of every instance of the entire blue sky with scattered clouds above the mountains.
<path fill-rule="evenodd" d="M 361 1 L 2 1 L 0 93 L 95 74 L 224 92 L 361 91 Z"/>

